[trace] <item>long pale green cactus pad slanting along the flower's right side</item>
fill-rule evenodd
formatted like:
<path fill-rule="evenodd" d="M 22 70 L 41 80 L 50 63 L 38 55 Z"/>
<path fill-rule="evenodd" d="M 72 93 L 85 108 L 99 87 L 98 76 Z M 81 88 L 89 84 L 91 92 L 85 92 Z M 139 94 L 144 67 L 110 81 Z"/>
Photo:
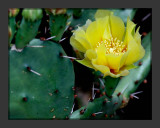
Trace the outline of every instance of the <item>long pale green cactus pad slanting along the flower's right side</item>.
<path fill-rule="evenodd" d="M 145 48 L 145 56 L 135 63 L 138 68 L 130 70 L 129 75 L 122 78 L 115 89 L 115 92 L 120 92 L 123 88 L 127 87 L 123 94 L 126 100 L 129 100 L 130 94 L 138 88 L 151 69 L 151 38 L 151 33 L 148 33 L 142 40 L 142 45 Z"/>

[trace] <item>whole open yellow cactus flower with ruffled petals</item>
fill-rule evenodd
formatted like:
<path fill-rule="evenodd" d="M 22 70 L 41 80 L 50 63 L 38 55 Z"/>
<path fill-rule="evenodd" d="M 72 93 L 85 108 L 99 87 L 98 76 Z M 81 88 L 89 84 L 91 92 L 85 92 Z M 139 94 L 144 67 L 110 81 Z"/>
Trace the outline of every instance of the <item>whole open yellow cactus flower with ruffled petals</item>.
<path fill-rule="evenodd" d="M 125 28 L 124 22 L 113 12 L 98 10 L 95 21 L 86 21 L 78 27 L 70 38 L 74 49 L 84 53 L 79 63 L 100 71 L 105 76 L 114 78 L 128 75 L 133 63 L 140 60 L 145 50 L 141 45 L 139 28 L 128 18 Z"/>

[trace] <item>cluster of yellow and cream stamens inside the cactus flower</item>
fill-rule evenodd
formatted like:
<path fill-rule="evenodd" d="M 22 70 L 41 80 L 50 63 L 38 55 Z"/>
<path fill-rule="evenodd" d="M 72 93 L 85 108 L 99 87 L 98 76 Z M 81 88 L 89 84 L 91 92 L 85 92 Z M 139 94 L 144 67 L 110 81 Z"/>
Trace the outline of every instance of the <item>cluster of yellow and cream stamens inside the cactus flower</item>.
<path fill-rule="evenodd" d="M 111 37 L 110 39 L 98 42 L 96 44 L 96 48 L 98 48 L 101 44 L 104 44 L 106 47 L 106 54 L 116 54 L 125 53 L 127 51 L 126 45 L 123 44 L 123 41 L 117 40 L 117 38 Z"/>

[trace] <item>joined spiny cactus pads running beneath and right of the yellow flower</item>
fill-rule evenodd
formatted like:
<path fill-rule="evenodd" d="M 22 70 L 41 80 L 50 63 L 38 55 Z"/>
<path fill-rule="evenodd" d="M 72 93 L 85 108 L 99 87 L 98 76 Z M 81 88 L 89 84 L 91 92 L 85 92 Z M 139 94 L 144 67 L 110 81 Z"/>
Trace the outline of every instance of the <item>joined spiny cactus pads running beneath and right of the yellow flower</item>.
<path fill-rule="evenodd" d="M 101 87 L 106 86 L 101 89 L 104 90 L 101 91 L 103 96 L 73 112 L 70 119 L 117 119 L 116 110 L 126 106 L 129 99 L 134 97 L 136 93 L 133 92 L 136 91 L 150 70 L 151 33 L 142 40 L 142 45 L 146 50 L 146 54 L 143 59 L 136 63 L 138 68 L 132 70 L 128 76 L 123 77 L 120 81 L 117 79 L 113 82 L 114 78 L 105 78 L 106 83 L 103 83 L 100 80 Z M 139 63 L 142 63 L 142 65 L 139 65 Z M 110 85 L 110 88 L 108 85 Z"/>

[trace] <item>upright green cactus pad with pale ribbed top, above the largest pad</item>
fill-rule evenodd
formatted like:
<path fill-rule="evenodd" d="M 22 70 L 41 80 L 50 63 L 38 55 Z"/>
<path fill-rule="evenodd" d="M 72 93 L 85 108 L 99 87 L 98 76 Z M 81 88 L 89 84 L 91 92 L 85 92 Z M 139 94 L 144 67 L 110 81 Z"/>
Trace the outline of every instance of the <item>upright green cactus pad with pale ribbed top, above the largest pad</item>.
<path fill-rule="evenodd" d="M 37 35 L 43 16 L 41 9 L 24 9 L 23 18 L 16 35 L 16 48 L 24 48 Z"/>

